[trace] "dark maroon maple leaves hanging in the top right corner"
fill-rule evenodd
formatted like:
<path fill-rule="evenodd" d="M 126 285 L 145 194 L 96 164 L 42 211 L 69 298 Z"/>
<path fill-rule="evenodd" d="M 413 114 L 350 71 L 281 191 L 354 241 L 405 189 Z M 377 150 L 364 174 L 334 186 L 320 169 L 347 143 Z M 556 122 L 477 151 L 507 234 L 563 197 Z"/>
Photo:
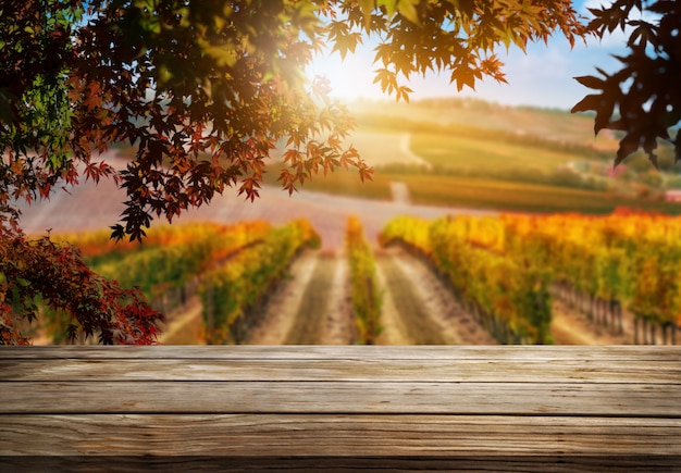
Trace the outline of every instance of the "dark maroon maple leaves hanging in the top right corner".
<path fill-rule="evenodd" d="M 575 77 L 598 91 L 587 95 L 572 112 L 594 111 L 594 133 L 623 133 L 615 165 L 643 149 L 657 167 L 658 139 L 674 146 L 681 159 L 678 127 L 681 123 L 681 5 L 670 0 L 616 0 L 609 7 L 590 9 L 589 28 L 599 38 L 618 29 L 628 34 L 628 53 L 616 55 L 619 71 Z M 651 17 L 651 20 L 645 20 Z M 676 136 L 670 132 L 677 129 Z"/>

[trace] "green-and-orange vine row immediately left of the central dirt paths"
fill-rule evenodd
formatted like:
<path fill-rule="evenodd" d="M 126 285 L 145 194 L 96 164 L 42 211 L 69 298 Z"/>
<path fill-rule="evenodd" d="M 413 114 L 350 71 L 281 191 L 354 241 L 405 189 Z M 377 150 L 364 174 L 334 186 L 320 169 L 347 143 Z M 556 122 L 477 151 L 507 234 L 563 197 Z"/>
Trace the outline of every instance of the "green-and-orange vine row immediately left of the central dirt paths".
<path fill-rule="evenodd" d="M 257 245 L 248 246 L 201 282 L 203 322 L 208 344 L 239 344 L 259 321 L 269 290 L 286 273 L 294 257 L 320 238 L 308 221 L 272 228 Z"/>

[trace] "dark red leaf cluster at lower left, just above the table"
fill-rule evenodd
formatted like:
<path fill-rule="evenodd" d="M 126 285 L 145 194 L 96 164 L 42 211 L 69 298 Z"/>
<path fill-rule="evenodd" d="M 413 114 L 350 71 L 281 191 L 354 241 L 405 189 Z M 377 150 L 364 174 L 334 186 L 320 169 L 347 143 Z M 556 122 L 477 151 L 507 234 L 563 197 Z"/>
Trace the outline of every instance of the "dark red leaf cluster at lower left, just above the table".
<path fill-rule="evenodd" d="M 38 300 L 71 314 L 67 337 L 97 336 L 99 343 L 148 345 L 162 315 L 145 301 L 139 288 L 92 273 L 71 245 L 49 236 L 0 239 L 0 345 L 25 344 L 15 322 L 33 322 Z"/>

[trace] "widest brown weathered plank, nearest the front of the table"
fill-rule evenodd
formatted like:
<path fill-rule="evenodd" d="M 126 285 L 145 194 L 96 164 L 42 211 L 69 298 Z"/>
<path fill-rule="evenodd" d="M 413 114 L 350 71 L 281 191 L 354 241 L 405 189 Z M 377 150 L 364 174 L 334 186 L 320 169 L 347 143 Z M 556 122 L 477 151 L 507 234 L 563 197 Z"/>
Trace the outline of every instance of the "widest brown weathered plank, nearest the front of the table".
<path fill-rule="evenodd" d="M 494 428 L 491 428 L 494 426 Z M 14 415 L 0 455 L 680 456 L 664 419 L 460 415 Z"/>

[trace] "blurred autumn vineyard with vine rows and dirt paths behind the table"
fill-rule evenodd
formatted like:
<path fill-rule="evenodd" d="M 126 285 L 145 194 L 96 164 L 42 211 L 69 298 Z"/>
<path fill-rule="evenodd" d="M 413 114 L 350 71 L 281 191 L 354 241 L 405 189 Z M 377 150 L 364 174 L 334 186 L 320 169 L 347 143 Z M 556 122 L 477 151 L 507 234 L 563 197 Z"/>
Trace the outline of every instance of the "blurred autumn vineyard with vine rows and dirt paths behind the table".
<path fill-rule="evenodd" d="M 681 219 L 399 216 L 320 250 L 306 220 L 58 235 L 168 315 L 163 344 L 676 344 Z M 46 343 L 69 321 L 46 313 Z M 570 337 L 569 332 L 574 336 Z M 566 335 L 566 332 L 568 335 Z"/>

